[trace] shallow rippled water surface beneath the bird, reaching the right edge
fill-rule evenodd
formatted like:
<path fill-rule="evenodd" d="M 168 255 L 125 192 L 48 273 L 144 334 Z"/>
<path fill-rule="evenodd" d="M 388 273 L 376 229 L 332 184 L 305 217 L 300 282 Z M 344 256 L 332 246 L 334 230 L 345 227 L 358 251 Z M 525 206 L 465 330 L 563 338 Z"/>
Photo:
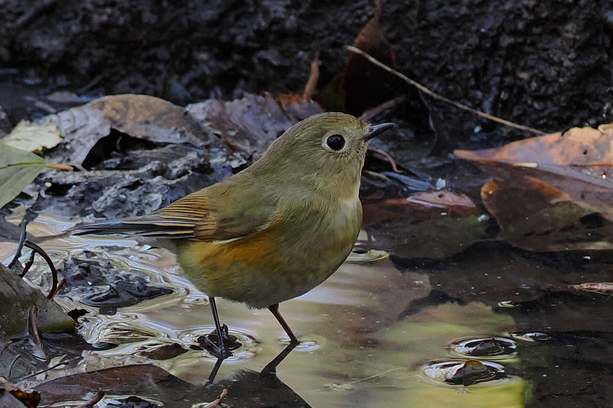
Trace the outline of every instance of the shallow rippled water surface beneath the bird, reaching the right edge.
<path fill-rule="evenodd" d="M 29 229 L 56 234 L 69 224 L 42 215 Z M 147 363 L 196 387 L 206 384 L 216 358 L 194 346 L 213 330 L 213 319 L 207 297 L 186 280 L 172 253 L 116 237 L 63 237 L 43 246 L 60 268 L 91 251 L 110 262 L 110 275 L 138 274 L 172 294 L 104 314 L 82 302 L 82 287 L 61 291 L 56 301 L 66 310 L 89 312 L 78 326 L 88 343 L 117 346 L 83 351 L 76 365 L 51 369 L 31 384 Z M 0 259 L 7 261 L 13 248 L 3 245 Z M 303 343 L 278 366 L 280 406 L 611 406 L 613 303 L 608 294 L 569 289 L 613 281 L 606 254 L 533 254 L 478 243 L 443 261 L 379 258 L 346 262 L 321 286 L 281 304 Z M 40 260 L 27 279 L 44 292 L 50 287 Z M 275 399 L 270 389 L 240 383 L 260 381 L 247 377 L 283 351 L 287 337 L 267 310 L 223 299 L 218 308 L 242 346 L 223 362 L 216 383 L 230 384 L 234 406 L 264 406 Z M 151 358 L 173 344 L 185 351 Z M 165 407 L 195 406 L 193 396 L 181 402 L 180 389 L 165 392 L 140 396 Z M 113 406 L 116 397 L 97 407 Z"/>

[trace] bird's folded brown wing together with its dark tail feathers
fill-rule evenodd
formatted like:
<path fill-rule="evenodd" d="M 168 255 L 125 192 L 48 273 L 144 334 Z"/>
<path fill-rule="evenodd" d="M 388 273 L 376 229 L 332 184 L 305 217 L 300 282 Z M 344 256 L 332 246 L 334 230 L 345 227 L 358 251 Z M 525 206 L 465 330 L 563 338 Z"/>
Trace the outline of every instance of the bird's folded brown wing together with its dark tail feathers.
<path fill-rule="evenodd" d="M 207 189 L 196 191 L 148 215 L 123 220 L 99 221 L 77 226 L 75 235 L 123 234 L 165 239 L 229 240 L 261 231 L 274 209 L 250 206 L 237 210 L 225 202 L 211 202 Z"/>

